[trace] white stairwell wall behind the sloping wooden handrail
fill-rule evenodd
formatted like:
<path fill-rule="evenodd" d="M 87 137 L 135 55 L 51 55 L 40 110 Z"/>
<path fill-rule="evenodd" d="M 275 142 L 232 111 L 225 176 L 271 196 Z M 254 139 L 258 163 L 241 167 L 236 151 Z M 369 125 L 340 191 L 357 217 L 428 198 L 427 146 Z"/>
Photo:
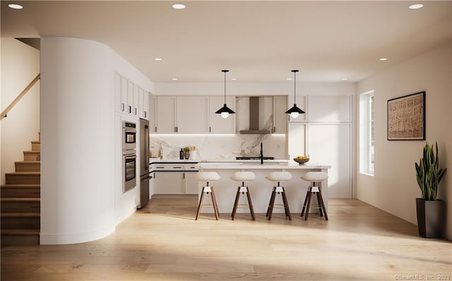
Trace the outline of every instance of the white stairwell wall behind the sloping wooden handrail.
<path fill-rule="evenodd" d="M 1 38 L 1 112 L 40 73 L 40 52 L 14 38 Z M 40 81 L 0 122 L 1 184 L 5 173 L 14 172 L 14 162 L 23 160 L 31 141 L 40 131 Z"/>

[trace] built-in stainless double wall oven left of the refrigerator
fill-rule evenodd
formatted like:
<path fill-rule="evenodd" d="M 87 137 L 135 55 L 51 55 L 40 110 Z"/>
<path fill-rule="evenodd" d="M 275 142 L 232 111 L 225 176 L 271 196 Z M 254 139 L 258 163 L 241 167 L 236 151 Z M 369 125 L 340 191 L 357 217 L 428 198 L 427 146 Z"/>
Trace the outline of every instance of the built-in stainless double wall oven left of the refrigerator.
<path fill-rule="evenodd" d="M 136 186 L 136 123 L 122 122 L 122 192 Z"/>

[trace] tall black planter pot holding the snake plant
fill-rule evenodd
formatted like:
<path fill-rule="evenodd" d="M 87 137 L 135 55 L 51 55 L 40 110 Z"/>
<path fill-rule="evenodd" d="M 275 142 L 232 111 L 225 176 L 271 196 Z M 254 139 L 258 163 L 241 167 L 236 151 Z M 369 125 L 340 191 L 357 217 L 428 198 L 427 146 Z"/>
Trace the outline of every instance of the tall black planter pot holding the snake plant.
<path fill-rule="evenodd" d="M 445 204 L 442 200 L 416 198 L 417 227 L 420 237 L 441 238 L 444 229 Z"/>

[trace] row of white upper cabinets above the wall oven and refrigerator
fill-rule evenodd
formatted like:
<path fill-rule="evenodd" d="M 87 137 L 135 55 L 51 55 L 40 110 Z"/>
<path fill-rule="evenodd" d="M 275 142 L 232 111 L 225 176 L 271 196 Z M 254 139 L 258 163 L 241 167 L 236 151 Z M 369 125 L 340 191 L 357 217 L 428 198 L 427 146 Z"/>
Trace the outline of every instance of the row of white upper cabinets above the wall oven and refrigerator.
<path fill-rule="evenodd" d="M 116 112 L 149 119 L 148 95 L 143 88 L 114 73 L 114 110 Z"/>

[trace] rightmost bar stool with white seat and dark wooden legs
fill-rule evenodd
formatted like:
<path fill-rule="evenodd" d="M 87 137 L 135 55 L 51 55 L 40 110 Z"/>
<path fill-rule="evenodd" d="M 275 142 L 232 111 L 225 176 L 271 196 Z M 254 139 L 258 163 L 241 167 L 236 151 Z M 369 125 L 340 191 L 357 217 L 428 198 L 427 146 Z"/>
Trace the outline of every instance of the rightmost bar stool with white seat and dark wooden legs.
<path fill-rule="evenodd" d="M 305 181 L 311 181 L 312 185 L 308 187 L 308 191 L 306 193 L 306 198 L 304 198 L 302 216 L 306 211 L 306 215 L 304 215 L 304 220 L 308 219 L 309 208 L 311 208 L 311 197 L 312 193 L 316 193 L 317 201 L 319 205 L 316 208 L 319 208 L 320 216 L 323 217 L 325 215 L 325 220 L 328 220 L 328 214 L 326 213 L 325 203 L 323 203 L 322 191 L 320 186 L 316 186 L 316 182 L 324 181 L 328 179 L 328 174 L 326 172 L 307 172 L 304 176 L 300 177 Z M 323 210 L 323 214 L 322 214 Z"/>

